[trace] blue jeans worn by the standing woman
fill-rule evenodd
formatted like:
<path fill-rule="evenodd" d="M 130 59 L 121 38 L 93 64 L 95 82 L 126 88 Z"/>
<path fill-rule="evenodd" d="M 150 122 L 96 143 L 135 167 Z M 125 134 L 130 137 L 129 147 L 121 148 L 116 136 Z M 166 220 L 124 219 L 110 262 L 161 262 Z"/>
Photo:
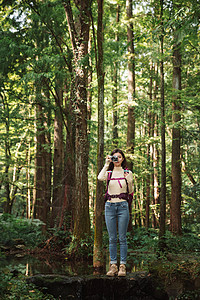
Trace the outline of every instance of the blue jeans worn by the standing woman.
<path fill-rule="evenodd" d="M 120 264 L 126 264 L 127 242 L 126 232 L 129 222 L 128 202 L 106 202 L 105 219 L 109 235 L 110 263 L 117 263 L 117 221 L 120 244 Z"/>

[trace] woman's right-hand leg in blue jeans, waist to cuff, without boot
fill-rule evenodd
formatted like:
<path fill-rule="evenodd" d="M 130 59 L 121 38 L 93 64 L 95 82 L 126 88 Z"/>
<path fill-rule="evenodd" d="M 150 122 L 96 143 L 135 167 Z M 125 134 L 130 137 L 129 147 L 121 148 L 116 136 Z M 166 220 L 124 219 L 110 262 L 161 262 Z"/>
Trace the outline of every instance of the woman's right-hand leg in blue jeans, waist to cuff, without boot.
<path fill-rule="evenodd" d="M 127 241 L 126 233 L 129 222 L 128 202 L 121 202 L 118 206 L 118 232 L 120 243 L 120 264 L 126 264 L 127 258 Z"/>

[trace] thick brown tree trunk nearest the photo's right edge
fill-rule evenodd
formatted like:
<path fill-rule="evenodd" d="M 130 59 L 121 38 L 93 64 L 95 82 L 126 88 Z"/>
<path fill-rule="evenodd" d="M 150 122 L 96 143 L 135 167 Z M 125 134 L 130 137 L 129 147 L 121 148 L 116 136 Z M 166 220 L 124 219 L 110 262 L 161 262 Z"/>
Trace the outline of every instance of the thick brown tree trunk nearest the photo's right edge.
<path fill-rule="evenodd" d="M 173 103 L 172 103 L 172 191 L 171 191 L 171 231 L 181 234 L 181 45 L 175 33 L 173 47 Z"/>

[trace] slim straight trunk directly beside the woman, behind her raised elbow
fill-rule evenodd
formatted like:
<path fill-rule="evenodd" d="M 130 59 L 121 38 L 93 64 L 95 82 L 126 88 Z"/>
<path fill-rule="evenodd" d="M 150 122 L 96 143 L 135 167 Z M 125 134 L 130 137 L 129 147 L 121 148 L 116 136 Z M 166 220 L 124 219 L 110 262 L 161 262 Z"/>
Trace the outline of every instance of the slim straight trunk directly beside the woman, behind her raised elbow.
<path fill-rule="evenodd" d="M 97 175 L 104 164 L 104 68 L 103 68 L 103 0 L 98 3 L 97 27 L 97 79 L 98 79 L 98 148 L 97 148 Z M 103 267 L 103 182 L 97 180 L 95 199 L 95 226 L 94 226 L 94 255 L 93 266 Z"/>

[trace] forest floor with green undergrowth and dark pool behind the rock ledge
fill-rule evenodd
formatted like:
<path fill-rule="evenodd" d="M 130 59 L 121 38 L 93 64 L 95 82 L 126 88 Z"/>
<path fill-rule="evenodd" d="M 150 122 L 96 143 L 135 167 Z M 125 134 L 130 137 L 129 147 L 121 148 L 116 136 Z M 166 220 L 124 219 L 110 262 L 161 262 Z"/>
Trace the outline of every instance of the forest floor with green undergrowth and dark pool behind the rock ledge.
<path fill-rule="evenodd" d="M 2 282 L 5 282 L 6 288 L 13 274 L 18 273 L 60 274 L 71 277 L 97 274 L 92 263 L 92 237 L 86 238 L 81 244 L 74 241 L 68 232 L 56 232 L 55 237 L 50 233 L 44 238 L 38 226 L 33 227 L 33 224 L 29 224 L 26 220 L 10 216 L 6 219 L 4 217 L 0 226 L 0 268 Z M 100 273 L 102 276 L 109 265 L 106 231 L 103 237 L 102 251 L 105 262 Z M 189 293 L 195 291 L 198 295 L 200 238 L 196 232 L 187 230 L 180 237 L 174 237 L 167 232 L 165 253 L 159 251 L 158 232 L 155 229 L 147 231 L 138 228 L 134 233 L 127 234 L 127 242 L 128 274 L 146 272 L 157 278 L 171 294 L 173 291 L 176 293 L 178 291 L 179 295 L 186 291 Z M 9 276 L 8 272 L 10 272 Z M 191 297 L 182 299 L 200 299 L 200 294 L 199 298 L 194 298 L 194 295 Z"/>

